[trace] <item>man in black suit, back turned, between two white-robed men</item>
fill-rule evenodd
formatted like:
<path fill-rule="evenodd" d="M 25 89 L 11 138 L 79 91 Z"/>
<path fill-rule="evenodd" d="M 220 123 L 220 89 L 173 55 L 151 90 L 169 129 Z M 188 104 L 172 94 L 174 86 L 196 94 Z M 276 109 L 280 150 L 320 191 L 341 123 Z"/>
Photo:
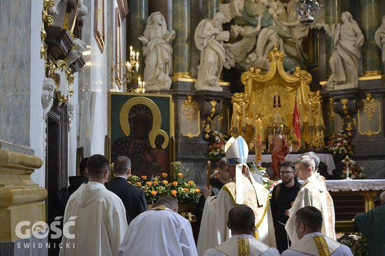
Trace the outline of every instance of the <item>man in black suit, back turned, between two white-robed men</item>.
<path fill-rule="evenodd" d="M 122 200 L 129 225 L 135 217 L 147 210 L 146 197 L 142 189 L 127 182 L 131 175 L 131 161 L 128 157 L 117 157 L 113 162 L 113 170 L 116 177 L 106 182 L 105 186 Z"/>

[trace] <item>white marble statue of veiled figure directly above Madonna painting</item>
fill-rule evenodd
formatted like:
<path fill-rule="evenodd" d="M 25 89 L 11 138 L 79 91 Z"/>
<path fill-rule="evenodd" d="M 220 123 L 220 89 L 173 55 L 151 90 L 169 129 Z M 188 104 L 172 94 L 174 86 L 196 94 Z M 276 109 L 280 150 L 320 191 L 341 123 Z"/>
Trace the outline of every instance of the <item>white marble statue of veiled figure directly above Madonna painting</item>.
<path fill-rule="evenodd" d="M 145 57 L 144 80 L 146 91 L 168 90 L 171 87 L 172 47 L 169 41 L 175 38 L 175 31 L 167 31 L 166 20 L 160 12 L 153 12 L 147 18 L 147 26 L 139 40 L 143 43 Z"/>

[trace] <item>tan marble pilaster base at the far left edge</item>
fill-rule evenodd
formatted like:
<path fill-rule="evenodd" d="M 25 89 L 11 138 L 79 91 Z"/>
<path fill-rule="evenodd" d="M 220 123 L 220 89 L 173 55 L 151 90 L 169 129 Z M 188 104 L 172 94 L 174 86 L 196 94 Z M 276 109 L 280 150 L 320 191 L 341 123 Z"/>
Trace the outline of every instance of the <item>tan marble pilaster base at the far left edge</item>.
<path fill-rule="evenodd" d="M 0 230 L 1 255 L 42 255 L 48 253 L 48 238 L 37 239 L 36 222 L 46 222 L 46 206 L 43 201 L 47 190 L 34 183 L 30 176 L 35 168 L 40 168 L 42 159 L 0 148 Z M 25 222 L 18 228 L 18 224 Z M 38 228 L 42 228 L 39 225 Z M 31 236 L 26 236 L 31 230 Z M 46 229 L 43 227 L 43 232 Z M 37 238 L 36 238 L 37 237 Z M 20 242 L 20 243 L 19 243 Z M 41 243 L 41 247 L 39 247 Z"/>

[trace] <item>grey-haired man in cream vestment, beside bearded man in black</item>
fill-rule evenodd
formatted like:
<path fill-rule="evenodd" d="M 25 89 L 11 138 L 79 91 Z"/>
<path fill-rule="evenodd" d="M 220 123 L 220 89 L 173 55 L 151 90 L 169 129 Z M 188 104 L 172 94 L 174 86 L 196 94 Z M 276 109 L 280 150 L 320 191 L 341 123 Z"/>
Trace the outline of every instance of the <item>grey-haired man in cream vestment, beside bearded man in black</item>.
<path fill-rule="evenodd" d="M 285 229 L 292 245 L 298 241 L 295 226 L 296 212 L 305 206 L 314 206 L 321 211 L 323 219 L 321 233 L 336 239 L 333 199 L 326 189 L 325 182 L 322 179 L 317 179 L 314 160 L 310 156 L 302 155 L 297 159 L 295 165 L 296 175 L 299 180 L 303 180 L 303 184 L 294 204 L 287 211 L 289 219 Z"/>

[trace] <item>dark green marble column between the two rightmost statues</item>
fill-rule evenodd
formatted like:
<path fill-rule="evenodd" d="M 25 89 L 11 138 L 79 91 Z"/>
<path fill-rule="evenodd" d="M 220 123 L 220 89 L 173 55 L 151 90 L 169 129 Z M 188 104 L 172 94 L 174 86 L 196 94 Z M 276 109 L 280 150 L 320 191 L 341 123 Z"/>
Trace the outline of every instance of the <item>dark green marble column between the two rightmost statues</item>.
<path fill-rule="evenodd" d="M 361 0 L 361 28 L 365 37 L 362 46 L 362 74 L 381 74 L 381 50 L 374 40 L 374 33 L 380 25 L 379 0 Z"/>

